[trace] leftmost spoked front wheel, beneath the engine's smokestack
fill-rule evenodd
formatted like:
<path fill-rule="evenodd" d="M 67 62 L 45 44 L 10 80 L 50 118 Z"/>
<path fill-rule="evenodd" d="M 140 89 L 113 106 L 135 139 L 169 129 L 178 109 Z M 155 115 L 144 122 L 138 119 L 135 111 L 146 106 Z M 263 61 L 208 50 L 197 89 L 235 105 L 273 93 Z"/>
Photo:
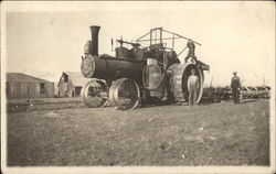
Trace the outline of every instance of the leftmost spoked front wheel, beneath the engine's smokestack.
<path fill-rule="evenodd" d="M 108 88 L 103 80 L 88 81 L 81 94 L 83 102 L 89 108 L 102 108 L 108 102 Z"/>

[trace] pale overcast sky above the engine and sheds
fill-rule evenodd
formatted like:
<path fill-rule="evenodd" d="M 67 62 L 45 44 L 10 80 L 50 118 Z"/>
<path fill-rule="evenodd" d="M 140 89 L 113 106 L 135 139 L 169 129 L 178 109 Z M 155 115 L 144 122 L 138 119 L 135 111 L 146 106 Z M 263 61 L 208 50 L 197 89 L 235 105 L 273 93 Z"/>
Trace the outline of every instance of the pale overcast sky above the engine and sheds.
<path fill-rule="evenodd" d="M 88 26 L 100 25 L 99 54 L 115 54 L 112 37 L 131 41 L 156 26 L 200 42 L 195 54 L 211 68 L 206 85 L 211 77 L 213 85 L 229 85 L 233 70 L 245 85 L 263 85 L 263 76 L 268 84 L 275 75 L 274 2 L 6 4 L 7 72 L 53 81 L 64 70 L 79 72 L 84 44 L 91 39 Z M 179 41 L 177 52 L 185 44 Z"/>

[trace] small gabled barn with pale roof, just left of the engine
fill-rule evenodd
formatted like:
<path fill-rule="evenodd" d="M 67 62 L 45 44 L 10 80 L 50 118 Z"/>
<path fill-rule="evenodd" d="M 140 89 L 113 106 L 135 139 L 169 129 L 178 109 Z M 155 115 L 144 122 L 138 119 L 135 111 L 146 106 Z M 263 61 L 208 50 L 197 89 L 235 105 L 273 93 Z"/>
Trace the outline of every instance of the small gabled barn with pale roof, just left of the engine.
<path fill-rule="evenodd" d="M 83 86 L 91 79 L 85 78 L 81 72 L 63 72 L 57 84 L 59 97 L 78 97 Z"/>

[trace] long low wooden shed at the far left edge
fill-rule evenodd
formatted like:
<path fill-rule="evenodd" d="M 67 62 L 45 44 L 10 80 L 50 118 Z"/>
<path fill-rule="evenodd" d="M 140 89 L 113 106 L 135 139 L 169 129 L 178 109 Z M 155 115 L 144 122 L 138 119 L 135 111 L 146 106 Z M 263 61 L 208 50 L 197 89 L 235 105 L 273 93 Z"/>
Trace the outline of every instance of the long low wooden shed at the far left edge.
<path fill-rule="evenodd" d="M 54 97 L 54 83 L 22 73 L 7 73 L 8 98 Z"/>

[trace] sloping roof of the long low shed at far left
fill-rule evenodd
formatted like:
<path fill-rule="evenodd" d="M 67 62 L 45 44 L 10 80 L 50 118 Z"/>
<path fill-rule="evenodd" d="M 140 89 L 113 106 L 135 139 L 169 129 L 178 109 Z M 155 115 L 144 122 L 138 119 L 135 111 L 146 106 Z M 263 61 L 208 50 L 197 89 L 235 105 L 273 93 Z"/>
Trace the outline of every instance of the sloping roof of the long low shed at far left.
<path fill-rule="evenodd" d="M 23 73 L 7 73 L 7 83 L 52 83 Z"/>

